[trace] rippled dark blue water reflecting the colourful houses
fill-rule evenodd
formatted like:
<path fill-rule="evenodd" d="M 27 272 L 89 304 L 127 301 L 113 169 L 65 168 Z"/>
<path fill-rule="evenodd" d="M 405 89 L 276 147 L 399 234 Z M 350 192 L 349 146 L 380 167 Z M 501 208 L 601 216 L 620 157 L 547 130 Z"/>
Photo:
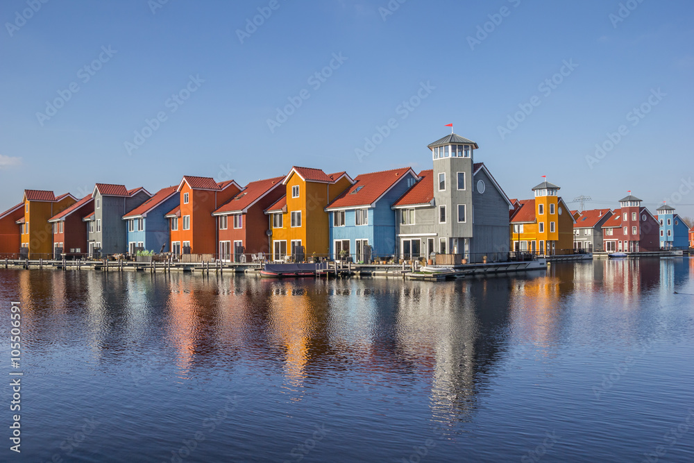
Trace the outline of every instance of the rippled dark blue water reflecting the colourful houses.
<path fill-rule="evenodd" d="M 24 376 L 22 453 L 3 385 L 0 459 L 691 462 L 693 276 L 687 258 L 446 283 L 2 269 Z"/>

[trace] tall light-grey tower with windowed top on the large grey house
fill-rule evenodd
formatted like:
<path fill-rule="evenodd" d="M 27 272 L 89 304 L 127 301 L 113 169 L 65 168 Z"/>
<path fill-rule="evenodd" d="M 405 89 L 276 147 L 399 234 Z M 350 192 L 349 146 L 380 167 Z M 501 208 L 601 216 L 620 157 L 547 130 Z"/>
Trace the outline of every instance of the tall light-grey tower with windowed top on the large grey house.
<path fill-rule="evenodd" d="M 434 230 L 439 253 L 469 258 L 473 237 L 473 151 L 477 143 L 451 133 L 430 143 L 434 163 Z"/>

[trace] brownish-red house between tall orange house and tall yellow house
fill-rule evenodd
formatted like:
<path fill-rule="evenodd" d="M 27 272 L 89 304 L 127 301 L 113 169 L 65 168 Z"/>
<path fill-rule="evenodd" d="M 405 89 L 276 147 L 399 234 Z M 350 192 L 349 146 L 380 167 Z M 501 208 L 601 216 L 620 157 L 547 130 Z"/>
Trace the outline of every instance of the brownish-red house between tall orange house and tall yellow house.
<path fill-rule="evenodd" d="M 269 255 L 269 237 L 265 210 L 285 195 L 284 177 L 248 183 L 239 194 L 221 205 L 217 217 L 219 258 L 243 262 L 248 254 Z"/>

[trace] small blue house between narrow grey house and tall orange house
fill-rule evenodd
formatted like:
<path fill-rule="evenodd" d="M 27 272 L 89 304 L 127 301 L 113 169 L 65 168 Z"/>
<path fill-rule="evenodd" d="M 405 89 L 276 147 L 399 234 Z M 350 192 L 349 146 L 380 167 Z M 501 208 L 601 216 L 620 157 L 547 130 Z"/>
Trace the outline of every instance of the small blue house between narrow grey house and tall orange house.
<path fill-rule="evenodd" d="M 164 215 L 180 203 L 176 187 L 166 187 L 123 216 L 128 252 L 169 252 L 169 219 Z"/>

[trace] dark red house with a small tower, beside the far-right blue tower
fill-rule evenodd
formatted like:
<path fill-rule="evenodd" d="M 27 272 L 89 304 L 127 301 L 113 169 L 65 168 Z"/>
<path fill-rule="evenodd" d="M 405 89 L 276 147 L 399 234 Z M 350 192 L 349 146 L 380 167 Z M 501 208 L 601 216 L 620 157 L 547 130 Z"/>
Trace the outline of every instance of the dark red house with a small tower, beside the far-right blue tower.
<path fill-rule="evenodd" d="M 619 203 L 621 207 L 602 226 L 605 252 L 658 251 L 660 225 L 641 205 L 641 199 L 629 194 Z"/>

